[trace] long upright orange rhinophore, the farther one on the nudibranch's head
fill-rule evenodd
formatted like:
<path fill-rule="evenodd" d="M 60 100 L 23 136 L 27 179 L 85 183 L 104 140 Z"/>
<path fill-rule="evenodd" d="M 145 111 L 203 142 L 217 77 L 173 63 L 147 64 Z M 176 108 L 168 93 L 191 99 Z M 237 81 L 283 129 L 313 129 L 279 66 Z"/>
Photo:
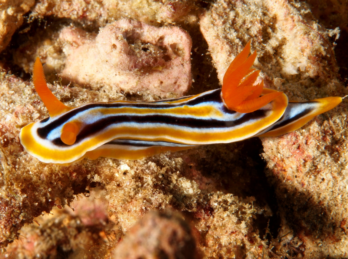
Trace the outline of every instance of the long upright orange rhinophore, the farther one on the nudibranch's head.
<path fill-rule="evenodd" d="M 72 108 L 64 105 L 54 94 L 48 89 L 44 69 L 40 62 L 40 58 L 37 57 L 34 63 L 33 69 L 33 82 L 36 92 L 39 94 L 42 102 L 46 106 L 49 116 L 57 116 Z"/>

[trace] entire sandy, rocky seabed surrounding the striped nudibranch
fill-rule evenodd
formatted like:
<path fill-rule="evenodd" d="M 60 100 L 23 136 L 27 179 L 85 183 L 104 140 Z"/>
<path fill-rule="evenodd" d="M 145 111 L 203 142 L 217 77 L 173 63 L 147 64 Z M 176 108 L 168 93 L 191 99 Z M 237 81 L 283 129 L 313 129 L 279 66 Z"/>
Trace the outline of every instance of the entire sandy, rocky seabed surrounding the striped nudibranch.
<path fill-rule="evenodd" d="M 348 257 L 347 99 L 283 136 L 137 161 L 45 164 L 18 137 L 48 116 L 37 56 L 73 107 L 219 88 L 249 40 L 266 87 L 343 97 L 347 1 L 1 0 L 0 11 L 0 258 Z"/>

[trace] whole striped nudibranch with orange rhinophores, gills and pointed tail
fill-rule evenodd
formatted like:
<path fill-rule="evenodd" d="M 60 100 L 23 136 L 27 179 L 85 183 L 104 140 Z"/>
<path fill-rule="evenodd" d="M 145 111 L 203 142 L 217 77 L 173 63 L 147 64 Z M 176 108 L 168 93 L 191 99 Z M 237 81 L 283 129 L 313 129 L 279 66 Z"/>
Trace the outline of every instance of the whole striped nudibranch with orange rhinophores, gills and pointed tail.
<path fill-rule="evenodd" d="M 230 143 L 294 131 L 337 106 L 341 97 L 288 102 L 283 92 L 255 84 L 250 42 L 228 67 L 221 89 L 155 102 L 64 105 L 48 89 L 40 59 L 33 83 L 49 117 L 26 125 L 19 138 L 42 162 L 69 165 L 85 157 L 136 160 L 197 145 Z"/>

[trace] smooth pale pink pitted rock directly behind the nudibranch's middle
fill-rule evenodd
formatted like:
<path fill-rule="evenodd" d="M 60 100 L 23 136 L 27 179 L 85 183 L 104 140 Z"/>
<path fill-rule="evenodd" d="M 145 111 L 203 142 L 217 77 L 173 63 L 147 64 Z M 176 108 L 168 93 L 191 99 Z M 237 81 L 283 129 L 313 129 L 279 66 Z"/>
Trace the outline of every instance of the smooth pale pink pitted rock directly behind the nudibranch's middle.
<path fill-rule="evenodd" d="M 78 84 L 106 85 L 115 91 L 182 96 L 190 87 L 191 39 L 179 27 L 157 28 L 123 18 L 93 39 L 71 27 L 60 39 L 69 42 L 62 76 Z"/>

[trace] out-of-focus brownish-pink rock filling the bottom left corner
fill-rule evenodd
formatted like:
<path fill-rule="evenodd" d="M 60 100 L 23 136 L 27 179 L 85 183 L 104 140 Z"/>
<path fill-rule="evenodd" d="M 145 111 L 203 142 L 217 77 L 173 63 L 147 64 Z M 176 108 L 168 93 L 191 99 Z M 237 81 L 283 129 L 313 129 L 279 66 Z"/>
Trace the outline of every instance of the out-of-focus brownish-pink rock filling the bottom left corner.
<path fill-rule="evenodd" d="M 53 208 L 20 231 L 17 242 L 0 258 L 101 258 L 111 256 L 106 247 L 117 243 L 122 232 L 109 222 L 107 201 L 100 190 L 79 197 L 71 207 Z M 104 249 L 103 249 L 104 248 Z M 106 252 L 106 253 L 105 253 Z"/>

